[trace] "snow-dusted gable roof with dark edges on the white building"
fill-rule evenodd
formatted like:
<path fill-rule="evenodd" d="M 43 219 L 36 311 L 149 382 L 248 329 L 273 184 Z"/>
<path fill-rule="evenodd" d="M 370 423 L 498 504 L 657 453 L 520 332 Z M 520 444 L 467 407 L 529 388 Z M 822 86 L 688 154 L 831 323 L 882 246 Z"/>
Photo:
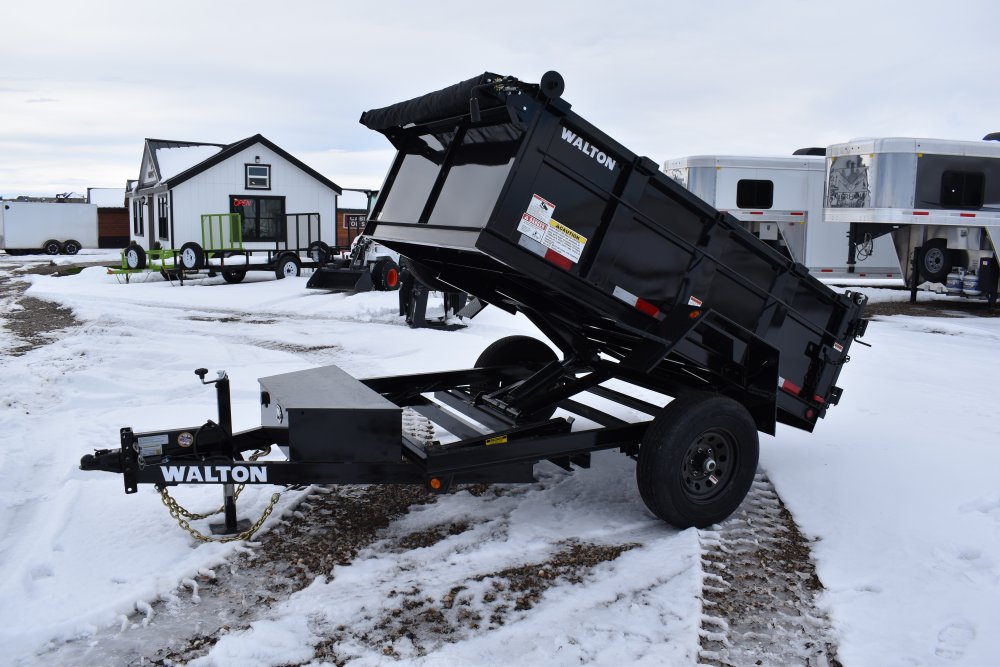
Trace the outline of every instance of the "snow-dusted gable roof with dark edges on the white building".
<path fill-rule="evenodd" d="M 323 176 L 321 173 L 261 134 L 255 134 L 252 137 L 247 137 L 246 139 L 242 139 L 229 145 L 206 144 L 193 141 L 164 141 L 162 139 L 146 139 L 146 151 L 148 152 L 151 161 L 154 163 L 154 168 L 157 170 L 157 184 L 172 188 L 180 185 L 184 181 L 194 178 L 208 169 L 211 169 L 215 165 L 224 162 L 233 155 L 236 155 L 237 153 L 246 150 L 255 144 L 266 146 L 302 171 L 315 178 L 326 187 L 336 192 L 338 195 L 341 194 L 342 191 L 339 185 L 328 179 L 326 176 Z M 179 150 L 176 154 L 166 152 L 166 150 L 176 149 L 183 150 Z M 159 158 L 166 158 L 167 156 L 169 156 L 171 165 L 177 168 L 177 170 L 173 173 L 168 173 L 166 169 L 163 169 L 163 167 L 166 167 L 167 165 L 160 164 Z M 200 157 L 200 161 L 184 166 L 186 161 L 196 157 Z M 143 159 L 146 159 L 145 156 Z M 152 185 L 152 183 L 150 185 Z"/>

